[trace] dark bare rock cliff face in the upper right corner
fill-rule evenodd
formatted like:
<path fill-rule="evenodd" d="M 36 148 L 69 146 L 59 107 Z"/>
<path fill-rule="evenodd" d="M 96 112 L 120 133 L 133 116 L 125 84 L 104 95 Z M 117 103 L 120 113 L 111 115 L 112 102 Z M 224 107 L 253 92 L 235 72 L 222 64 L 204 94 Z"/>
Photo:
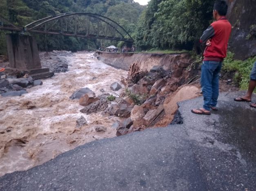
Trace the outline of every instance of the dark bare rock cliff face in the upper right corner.
<path fill-rule="evenodd" d="M 229 50 L 236 59 L 256 55 L 256 0 L 229 0 L 227 17 L 232 24 Z"/>

